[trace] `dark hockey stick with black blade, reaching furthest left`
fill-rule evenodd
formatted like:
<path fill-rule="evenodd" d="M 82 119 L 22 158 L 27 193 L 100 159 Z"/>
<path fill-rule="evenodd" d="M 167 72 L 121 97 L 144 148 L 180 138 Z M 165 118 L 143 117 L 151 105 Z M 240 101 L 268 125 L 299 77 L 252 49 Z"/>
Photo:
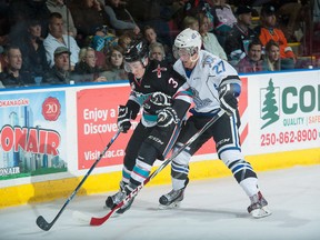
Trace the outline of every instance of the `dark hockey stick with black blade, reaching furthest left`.
<path fill-rule="evenodd" d="M 61 213 L 63 212 L 64 208 L 69 204 L 69 202 L 73 199 L 73 197 L 77 194 L 77 192 L 79 191 L 79 189 L 81 188 L 81 186 L 83 184 L 83 182 L 86 181 L 86 179 L 89 177 L 89 174 L 91 173 L 91 171 L 94 169 L 94 167 L 98 164 L 98 162 L 102 159 L 102 157 L 104 156 L 104 153 L 107 152 L 107 150 L 110 148 L 110 146 L 116 141 L 116 139 L 118 138 L 118 136 L 120 134 L 121 129 L 119 129 L 116 134 L 112 137 L 112 139 L 110 140 L 110 142 L 108 143 L 108 146 L 103 149 L 103 151 L 100 153 L 99 158 L 94 161 L 94 163 L 91 166 L 91 168 L 89 169 L 89 171 L 86 173 L 86 176 L 82 178 L 82 180 L 80 181 L 80 183 L 78 184 L 78 187 L 74 189 L 74 191 L 72 192 L 72 194 L 68 198 L 68 200 L 64 202 L 64 204 L 62 206 L 62 208 L 60 209 L 60 211 L 58 212 L 58 214 L 56 216 L 56 218 L 51 221 L 51 222 L 47 222 L 46 219 L 42 216 L 39 216 L 37 218 L 37 224 L 39 228 L 41 228 L 44 231 L 49 231 L 51 229 L 51 227 L 54 224 L 54 222 L 58 220 L 58 218 L 61 216 Z"/>

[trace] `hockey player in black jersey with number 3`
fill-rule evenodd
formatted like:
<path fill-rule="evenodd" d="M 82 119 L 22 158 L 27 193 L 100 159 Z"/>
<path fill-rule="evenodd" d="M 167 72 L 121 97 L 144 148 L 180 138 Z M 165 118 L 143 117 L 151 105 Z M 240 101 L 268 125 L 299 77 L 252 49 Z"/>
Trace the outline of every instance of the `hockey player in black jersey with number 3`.
<path fill-rule="evenodd" d="M 143 41 L 132 43 L 123 57 L 131 93 L 126 106 L 119 107 L 119 129 L 126 133 L 141 108 L 142 114 L 126 148 L 120 190 L 106 200 L 111 209 L 148 178 L 157 159 L 163 160 L 171 150 L 192 100 L 188 83 L 171 66 L 149 60 Z M 123 213 L 132 201 L 117 212 Z"/>

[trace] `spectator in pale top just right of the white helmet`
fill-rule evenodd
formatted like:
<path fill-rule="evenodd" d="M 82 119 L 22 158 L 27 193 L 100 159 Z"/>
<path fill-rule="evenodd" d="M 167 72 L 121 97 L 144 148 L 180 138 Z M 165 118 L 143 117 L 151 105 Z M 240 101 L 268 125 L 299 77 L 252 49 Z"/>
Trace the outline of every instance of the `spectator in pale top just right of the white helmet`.
<path fill-rule="evenodd" d="M 223 60 L 228 60 L 227 59 L 227 54 L 224 52 L 224 50 L 222 49 L 222 47 L 220 46 L 217 37 L 209 32 L 209 19 L 208 16 L 203 12 L 200 12 L 198 14 L 198 19 L 199 19 L 199 32 L 202 37 L 202 44 L 203 44 L 203 49 L 211 52 L 212 54 L 218 56 L 219 58 L 223 59 Z"/>

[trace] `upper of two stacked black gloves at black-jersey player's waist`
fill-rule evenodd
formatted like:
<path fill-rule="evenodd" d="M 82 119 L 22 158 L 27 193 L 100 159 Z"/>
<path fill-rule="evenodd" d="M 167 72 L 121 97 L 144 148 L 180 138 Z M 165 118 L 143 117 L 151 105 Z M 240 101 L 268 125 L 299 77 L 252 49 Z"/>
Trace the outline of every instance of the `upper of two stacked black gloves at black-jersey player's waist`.
<path fill-rule="evenodd" d="M 160 110 L 169 106 L 171 106 L 171 98 L 162 92 L 153 92 L 143 103 L 144 110 L 151 114 L 158 114 Z"/>

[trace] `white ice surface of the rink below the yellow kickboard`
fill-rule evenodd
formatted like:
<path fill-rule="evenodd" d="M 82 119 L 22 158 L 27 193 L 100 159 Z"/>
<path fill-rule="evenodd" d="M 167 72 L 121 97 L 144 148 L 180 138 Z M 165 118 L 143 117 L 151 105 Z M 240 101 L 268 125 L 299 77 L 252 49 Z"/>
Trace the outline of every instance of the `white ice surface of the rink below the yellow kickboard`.
<path fill-rule="evenodd" d="M 191 181 L 179 209 L 159 210 L 158 199 L 170 186 L 143 188 L 131 209 L 90 227 L 72 218 L 74 211 L 102 217 L 108 194 L 74 197 L 49 231 L 36 224 L 38 216 L 51 222 L 67 199 L 0 210 L 1 240 L 320 240 L 320 166 L 258 172 L 270 217 L 252 219 L 249 199 L 233 177 Z M 70 192 L 71 193 L 71 192 Z"/>

